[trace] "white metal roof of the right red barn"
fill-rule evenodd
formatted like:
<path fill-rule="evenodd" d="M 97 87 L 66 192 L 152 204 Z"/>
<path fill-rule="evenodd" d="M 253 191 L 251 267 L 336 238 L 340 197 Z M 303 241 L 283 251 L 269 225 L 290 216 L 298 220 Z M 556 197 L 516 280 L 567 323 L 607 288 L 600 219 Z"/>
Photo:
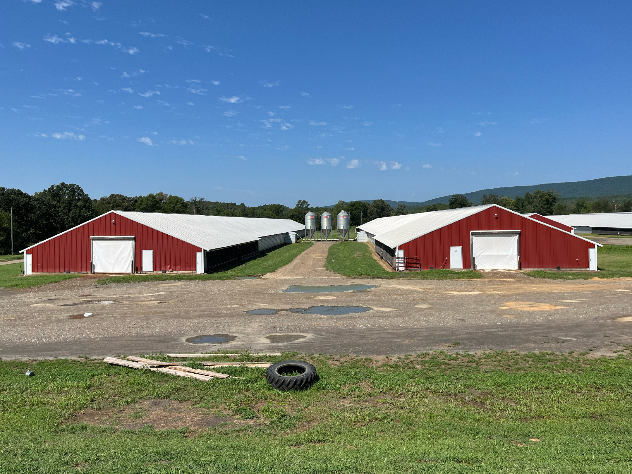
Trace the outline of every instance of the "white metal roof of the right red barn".
<path fill-rule="evenodd" d="M 406 214 L 405 216 L 380 217 L 379 219 L 374 219 L 362 226 L 358 226 L 356 230 L 367 231 L 370 234 L 374 234 L 375 239 L 379 240 L 384 245 L 395 248 L 398 245 L 410 242 L 411 240 L 421 237 L 422 235 L 429 234 L 437 229 L 441 229 L 442 227 L 449 226 L 449 224 L 465 219 L 465 217 L 473 216 L 474 214 L 477 214 L 482 210 L 489 209 L 490 207 L 500 207 L 508 212 L 518 214 L 518 212 L 506 209 L 497 204 L 485 204 L 479 206 L 461 207 L 459 209 L 434 210 L 430 212 L 420 212 L 419 214 Z M 601 244 L 593 242 L 592 240 L 576 236 L 575 234 L 550 226 L 545 222 L 537 221 L 536 219 L 525 216 L 524 214 L 518 214 L 518 216 L 523 216 L 525 219 L 538 222 L 538 224 L 542 224 L 543 226 L 556 229 L 556 231 L 564 232 L 572 235 L 573 237 L 601 246 Z"/>

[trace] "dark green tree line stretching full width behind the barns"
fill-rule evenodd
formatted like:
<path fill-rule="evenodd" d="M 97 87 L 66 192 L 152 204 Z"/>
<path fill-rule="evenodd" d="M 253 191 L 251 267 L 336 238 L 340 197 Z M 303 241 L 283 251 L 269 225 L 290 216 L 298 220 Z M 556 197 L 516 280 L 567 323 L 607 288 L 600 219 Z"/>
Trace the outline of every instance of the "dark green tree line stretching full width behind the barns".
<path fill-rule="evenodd" d="M 525 193 L 513 199 L 508 196 L 486 194 L 480 204 L 498 204 L 521 214 L 537 212 L 543 216 L 552 214 L 572 214 L 574 212 L 619 212 L 632 209 L 632 200 L 609 202 L 595 200 L 587 202 L 580 198 L 576 204 L 562 204 L 559 193 L 552 190 Z M 208 201 L 201 197 L 185 200 L 176 195 L 158 192 L 146 196 L 125 196 L 111 194 L 99 199 L 88 196 L 79 185 L 59 183 L 48 189 L 30 195 L 19 189 L 0 186 L 0 255 L 11 252 L 11 207 L 13 208 L 13 251 L 46 240 L 56 234 L 71 229 L 94 217 L 111 210 L 132 210 L 138 212 L 166 212 L 173 214 L 202 214 L 207 216 L 265 217 L 268 219 L 292 219 L 303 223 L 307 212 L 322 214 L 331 212 L 333 216 L 341 210 L 350 214 L 352 226 L 372 221 L 379 217 L 401 216 L 433 210 L 458 209 L 474 205 L 461 194 L 452 195 L 448 204 L 431 204 L 406 208 L 404 204 L 391 207 L 385 200 L 376 199 L 372 203 L 363 201 L 338 201 L 333 208 L 310 205 L 299 200 L 295 207 L 283 204 L 264 204 L 248 207 L 234 202 Z M 336 226 L 336 219 L 334 228 Z"/>

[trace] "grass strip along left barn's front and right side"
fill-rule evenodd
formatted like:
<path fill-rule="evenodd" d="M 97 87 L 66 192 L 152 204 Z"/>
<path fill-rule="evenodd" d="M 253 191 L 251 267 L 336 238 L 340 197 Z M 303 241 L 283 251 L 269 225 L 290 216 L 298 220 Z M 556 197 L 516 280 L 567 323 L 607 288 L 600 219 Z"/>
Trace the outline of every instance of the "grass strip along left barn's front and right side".
<path fill-rule="evenodd" d="M 204 275 L 193 274 L 136 274 L 129 276 L 112 276 L 97 280 L 98 284 L 107 283 L 130 283 L 135 281 L 163 281 L 163 280 L 231 280 L 236 277 L 258 276 L 274 272 L 283 265 L 289 264 L 300 253 L 305 252 L 313 244 L 310 242 L 300 242 L 286 244 L 273 248 L 269 251 L 261 252 L 261 257 L 253 258 L 245 264 L 235 265 L 232 268 L 224 269 L 220 272 Z"/>

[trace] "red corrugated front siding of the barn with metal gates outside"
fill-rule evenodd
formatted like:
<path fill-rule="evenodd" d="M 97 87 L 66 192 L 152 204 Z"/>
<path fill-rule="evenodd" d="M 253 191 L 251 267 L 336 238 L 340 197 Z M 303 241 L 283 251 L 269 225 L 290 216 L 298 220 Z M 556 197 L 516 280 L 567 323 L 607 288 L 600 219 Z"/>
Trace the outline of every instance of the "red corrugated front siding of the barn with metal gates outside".
<path fill-rule="evenodd" d="M 494 214 L 498 214 L 495 219 Z M 523 269 L 588 268 L 588 248 L 594 243 L 539 224 L 499 207 L 485 209 L 449 226 L 399 245 L 406 257 L 419 257 L 422 268 L 449 268 L 450 247 L 463 247 L 463 268 L 469 269 L 470 231 L 520 229 L 520 262 Z"/>

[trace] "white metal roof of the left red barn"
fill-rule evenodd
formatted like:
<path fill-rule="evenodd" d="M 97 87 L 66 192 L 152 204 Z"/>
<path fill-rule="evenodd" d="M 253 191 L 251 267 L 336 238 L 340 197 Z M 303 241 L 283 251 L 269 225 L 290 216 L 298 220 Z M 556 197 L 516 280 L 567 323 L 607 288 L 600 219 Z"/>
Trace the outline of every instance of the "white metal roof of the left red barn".
<path fill-rule="evenodd" d="M 161 212 L 131 212 L 125 210 L 111 210 L 106 214 L 119 214 L 131 221 L 138 222 L 179 240 L 198 246 L 204 250 L 214 250 L 240 243 L 260 240 L 261 237 L 286 232 L 297 232 L 305 226 L 300 222 L 289 219 L 264 219 L 262 217 L 225 217 L 225 216 L 199 216 L 193 214 L 162 214 Z M 106 216 L 103 214 L 102 216 Z M 102 217 L 99 216 L 99 217 Z M 95 217 L 95 219 L 99 219 Z M 95 219 L 91 219 L 94 221 Z M 87 221 L 90 222 L 90 221 Z M 61 234 L 70 232 L 87 224 L 83 222 L 79 226 L 68 229 L 56 236 L 52 236 L 42 242 L 54 239 Z M 24 250 L 33 248 L 36 243 Z M 21 252 L 24 252 L 21 250 Z"/>

